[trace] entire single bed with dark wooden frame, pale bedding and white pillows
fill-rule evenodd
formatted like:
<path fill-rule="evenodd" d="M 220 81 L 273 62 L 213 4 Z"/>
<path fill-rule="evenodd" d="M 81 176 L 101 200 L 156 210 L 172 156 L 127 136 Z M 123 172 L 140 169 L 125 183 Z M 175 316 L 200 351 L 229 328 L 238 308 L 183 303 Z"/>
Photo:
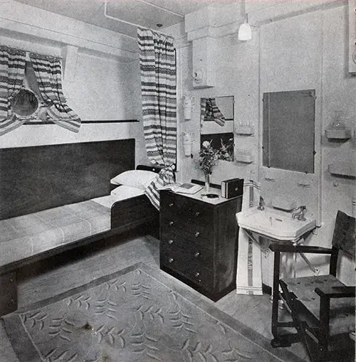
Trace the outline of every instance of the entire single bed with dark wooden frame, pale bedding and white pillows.
<path fill-rule="evenodd" d="M 19 267 L 127 230 L 157 233 L 135 176 L 159 169 L 135 169 L 135 139 L 0 149 L 0 163 L 0 315 L 17 309 Z"/>

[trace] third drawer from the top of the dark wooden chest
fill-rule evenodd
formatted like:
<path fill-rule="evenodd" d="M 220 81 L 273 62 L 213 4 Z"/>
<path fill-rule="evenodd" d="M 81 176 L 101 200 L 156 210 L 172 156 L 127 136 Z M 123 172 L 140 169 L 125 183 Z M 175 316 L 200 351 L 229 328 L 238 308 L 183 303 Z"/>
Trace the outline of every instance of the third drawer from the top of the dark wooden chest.
<path fill-rule="evenodd" d="M 188 264 L 195 263 L 207 269 L 213 269 L 214 267 L 214 258 L 211 250 L 207 250 L 201 247 L 201 245 L 184 238 L 179 238 L 179 236 L 174 234 L 167 233 L 162 236 L 159 252 L 164 255 L 177 255 L 183 264 L 185 262 Z"/>

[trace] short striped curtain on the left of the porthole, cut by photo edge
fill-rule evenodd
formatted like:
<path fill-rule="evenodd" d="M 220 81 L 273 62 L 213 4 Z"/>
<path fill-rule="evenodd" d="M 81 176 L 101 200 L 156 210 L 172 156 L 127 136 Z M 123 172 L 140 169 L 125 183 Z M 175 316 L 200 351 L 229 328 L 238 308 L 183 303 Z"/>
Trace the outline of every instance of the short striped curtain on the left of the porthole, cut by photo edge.
<path fill-rule="evenodd" d="M 0 136 L 26 122 L 16 117 L 10 104 L 22 87 L 25 68 L 25 51 L 0 46 Z"/>

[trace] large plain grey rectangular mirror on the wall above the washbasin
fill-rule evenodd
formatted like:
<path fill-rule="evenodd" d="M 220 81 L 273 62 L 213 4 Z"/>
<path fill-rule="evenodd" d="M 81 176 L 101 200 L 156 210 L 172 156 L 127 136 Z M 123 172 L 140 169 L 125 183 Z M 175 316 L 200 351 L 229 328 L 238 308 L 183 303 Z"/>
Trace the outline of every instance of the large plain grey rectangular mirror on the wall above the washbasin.
<path fill-rule="evenodd" d="M 263 166 L 314 173 L 315 90 L 263 93 Z"/>

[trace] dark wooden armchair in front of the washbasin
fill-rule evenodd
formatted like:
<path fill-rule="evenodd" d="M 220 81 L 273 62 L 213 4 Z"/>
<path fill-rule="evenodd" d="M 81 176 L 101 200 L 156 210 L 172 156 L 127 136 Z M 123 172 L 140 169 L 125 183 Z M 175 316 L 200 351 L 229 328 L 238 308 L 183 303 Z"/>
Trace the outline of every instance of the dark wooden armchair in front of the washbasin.
<path fill-rule="evenodd" d="M 350 338 L 352 332 L 355 336 L 355 287 L 336 277 L 339 250 L 355 260 L 355 218 L 337 211 L 331 248 L 278 244 L 270 248 L 274 252 L 271 345 L 286 347 L 301 341 L 312 362 L 355 361 L 355 339 Z M 281 252 L 330 254 L 330 274 L 279 280 Z M 279 297 L 293 321 L 278 321 Z M 286 327 L 296 332 L 288 334 Z"/>

